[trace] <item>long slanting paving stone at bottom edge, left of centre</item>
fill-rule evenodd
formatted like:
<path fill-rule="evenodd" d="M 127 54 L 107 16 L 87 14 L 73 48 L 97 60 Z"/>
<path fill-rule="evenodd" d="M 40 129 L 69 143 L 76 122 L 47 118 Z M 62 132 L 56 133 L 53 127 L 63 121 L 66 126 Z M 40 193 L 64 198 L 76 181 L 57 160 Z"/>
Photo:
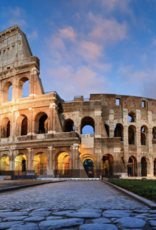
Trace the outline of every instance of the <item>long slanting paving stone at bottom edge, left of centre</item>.
<path fill-rule="evenodd" d="M 72 227 L 83 224 L 84 220 L 79 218 L 61 219 L 61 220 L 48 220 L 42 221 L 39 226 L 42 230 L 58 229 L 63 227 Z"/>

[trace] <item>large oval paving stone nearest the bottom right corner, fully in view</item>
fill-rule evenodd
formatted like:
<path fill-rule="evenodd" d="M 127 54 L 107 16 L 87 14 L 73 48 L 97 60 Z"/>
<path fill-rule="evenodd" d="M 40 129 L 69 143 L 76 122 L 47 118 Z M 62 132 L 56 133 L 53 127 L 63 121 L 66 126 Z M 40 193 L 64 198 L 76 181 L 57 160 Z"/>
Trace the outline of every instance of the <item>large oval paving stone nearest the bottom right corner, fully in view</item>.
<path fill-rule="evenodd" d="M 134 217 L 124 217 L 115 221 L 121 227 L 126 228 L 142 228 L 145 226 L 146 222 L 142 219 L 137 219 Z"/>

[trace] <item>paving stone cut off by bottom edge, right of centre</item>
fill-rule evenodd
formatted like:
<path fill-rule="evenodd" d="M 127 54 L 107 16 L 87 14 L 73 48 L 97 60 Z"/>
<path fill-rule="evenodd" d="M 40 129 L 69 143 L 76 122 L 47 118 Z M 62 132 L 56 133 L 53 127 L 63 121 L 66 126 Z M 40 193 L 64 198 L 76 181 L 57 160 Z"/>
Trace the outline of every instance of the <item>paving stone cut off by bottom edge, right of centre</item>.
<path fill-rule="evenodd" d="M 113 224 L 83 224 L 79 227 L 80 230 L 118 230 Z"/>

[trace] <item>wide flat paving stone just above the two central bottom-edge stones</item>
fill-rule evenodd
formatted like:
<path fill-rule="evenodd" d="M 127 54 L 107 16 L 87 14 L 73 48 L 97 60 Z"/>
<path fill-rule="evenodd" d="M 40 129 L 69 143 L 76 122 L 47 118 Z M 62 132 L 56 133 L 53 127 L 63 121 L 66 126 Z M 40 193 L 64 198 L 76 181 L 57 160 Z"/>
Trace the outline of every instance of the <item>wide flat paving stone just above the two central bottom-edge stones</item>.
<path fill-rule="evenodd" d="M 79 217 L 79 218 L 99 218 L 101 214 L 94 211 L 78 211 L 66 214 L 68 217 Z"/>

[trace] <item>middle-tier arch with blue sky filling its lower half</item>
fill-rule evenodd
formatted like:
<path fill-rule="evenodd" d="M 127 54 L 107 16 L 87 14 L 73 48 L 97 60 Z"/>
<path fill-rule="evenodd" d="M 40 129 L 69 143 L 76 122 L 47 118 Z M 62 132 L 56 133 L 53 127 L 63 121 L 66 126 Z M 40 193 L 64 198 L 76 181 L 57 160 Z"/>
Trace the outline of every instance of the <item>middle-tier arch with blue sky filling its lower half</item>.
<path fill-rule="evenodd" d="M 94 134 L 95 123 L 93 118 L 84 117 L 81 121 L 81 134 Z"/>

